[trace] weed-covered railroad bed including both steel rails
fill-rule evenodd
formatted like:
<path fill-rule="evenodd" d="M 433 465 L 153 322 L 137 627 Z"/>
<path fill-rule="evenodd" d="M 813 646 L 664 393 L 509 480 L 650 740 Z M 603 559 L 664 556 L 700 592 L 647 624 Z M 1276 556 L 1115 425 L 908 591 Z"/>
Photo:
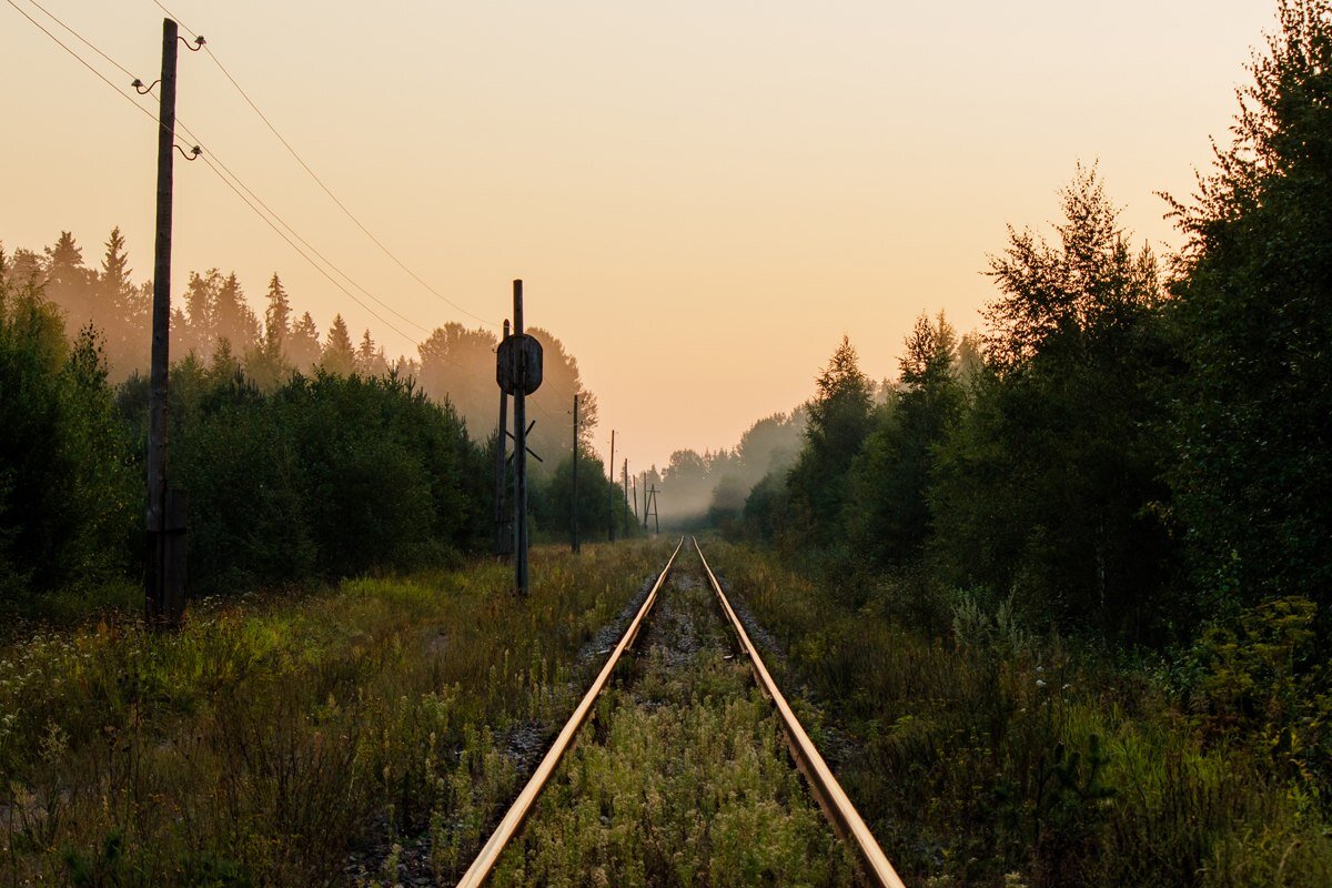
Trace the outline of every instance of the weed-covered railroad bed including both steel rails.
<path fill-rule="evenodd" d="M 900 885 L 747 651 L 681 541 L 460 885 Z"/>

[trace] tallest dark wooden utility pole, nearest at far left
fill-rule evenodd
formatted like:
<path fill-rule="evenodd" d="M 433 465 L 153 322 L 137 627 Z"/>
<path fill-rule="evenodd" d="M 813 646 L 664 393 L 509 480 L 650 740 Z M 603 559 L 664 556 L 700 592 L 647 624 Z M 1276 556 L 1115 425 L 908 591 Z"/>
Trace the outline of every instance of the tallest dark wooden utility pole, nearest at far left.
<path fill-rule="evenodd" d="M 145 616 L 180 622 L 185 598 L 185 495 L 166 489 L 166 374 L 170 363 L 172 161 L 176 152 L 177 28 L 163 19 L 163 76 L 157 126 L 157 240 L 153 254 L 153 333 L 148 389 L 148 571 Z"/>

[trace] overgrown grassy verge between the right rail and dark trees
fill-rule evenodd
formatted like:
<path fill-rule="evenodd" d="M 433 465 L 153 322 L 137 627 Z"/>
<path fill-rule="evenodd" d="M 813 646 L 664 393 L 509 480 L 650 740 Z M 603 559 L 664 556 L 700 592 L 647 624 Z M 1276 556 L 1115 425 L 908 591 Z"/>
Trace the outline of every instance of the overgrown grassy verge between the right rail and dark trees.
<path fill-rule="evenodd" d="M 831 764 L 908 884 L 1332 884 L 1317 756 L 1299 731 L 1264 730 L 1271 710 L 1239 730 L 1243 714 L 1177 690 L 1179 663 L 1110 664 L 964 602 L 931 638 L 882 599 L 852 611 L 769 558 L 706 550 L 782 648 L 778 682 L 823 707 L 811 734 L 842 751 Z M 1280 604 L 1259 618 L 1267 671 L 1249 674 L 1280 696 L 1303 618 Z M 1248 680 L 1233 640 L 1197 687 Z M 1319 727 L 1305 719 L 1304 735 Z"/>

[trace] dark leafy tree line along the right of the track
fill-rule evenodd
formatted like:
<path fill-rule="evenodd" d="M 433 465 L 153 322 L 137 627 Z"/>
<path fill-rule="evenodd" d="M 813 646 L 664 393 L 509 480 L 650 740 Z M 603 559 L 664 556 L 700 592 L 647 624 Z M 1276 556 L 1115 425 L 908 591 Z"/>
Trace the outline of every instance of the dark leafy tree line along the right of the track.
<path fill-rule="evenodd" d="M 1098 638 L 1166 643 L 1275 596 L 1325 636 L 1329 17 L 1281 4 L 1233 144 L 1169 200 L 1180 254 L 1135 245 L 1079 166 L 1055 237 L 1010 229 L 991 257 L 982 334 L 922 316 L 882 402 L 843 339 L 738 533 Z"/>

